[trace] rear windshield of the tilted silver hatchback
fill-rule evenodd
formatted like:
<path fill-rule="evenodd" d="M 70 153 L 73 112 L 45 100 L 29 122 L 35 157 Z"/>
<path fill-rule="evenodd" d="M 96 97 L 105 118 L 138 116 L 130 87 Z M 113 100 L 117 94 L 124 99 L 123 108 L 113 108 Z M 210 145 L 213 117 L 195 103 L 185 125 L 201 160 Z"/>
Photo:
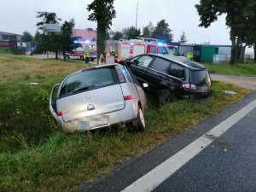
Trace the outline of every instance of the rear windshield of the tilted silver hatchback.
<path fill-rule="evenodd" d="M 71 96 L 79 92 L 95 90 L 113 84 L 119 84 L 119 77 L 114 66 L 85 69 L 65 79 L 61 86 L 60 97 Z"/>

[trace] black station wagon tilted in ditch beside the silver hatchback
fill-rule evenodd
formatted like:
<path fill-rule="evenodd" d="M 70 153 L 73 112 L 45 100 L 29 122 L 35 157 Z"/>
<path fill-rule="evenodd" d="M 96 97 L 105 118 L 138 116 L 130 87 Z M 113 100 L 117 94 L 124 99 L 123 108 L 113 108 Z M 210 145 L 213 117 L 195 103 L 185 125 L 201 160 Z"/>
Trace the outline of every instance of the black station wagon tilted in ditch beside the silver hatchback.
<path fill-rule="evenodd" d="M 125 61 L 140 82 L 158 94 L 160 104 L 176 98 L 208 96 L 211 86 L 207 68 L 175 55 L 137 55 Z"/>

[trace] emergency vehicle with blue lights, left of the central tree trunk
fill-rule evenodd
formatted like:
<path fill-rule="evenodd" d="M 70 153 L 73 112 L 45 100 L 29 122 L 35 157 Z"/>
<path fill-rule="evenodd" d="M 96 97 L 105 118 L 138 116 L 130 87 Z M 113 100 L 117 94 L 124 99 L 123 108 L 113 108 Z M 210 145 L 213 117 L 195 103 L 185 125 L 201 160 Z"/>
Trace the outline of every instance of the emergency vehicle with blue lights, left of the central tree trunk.
<path fill-rule="evenodd" d="M 81 46 L 77 49 L 73 49 L 71 52 L 67 52 L 67 59 L 74 58 L 84 60 L 84 51 L 89 53 L 90 61 L 94 61 L 96 59 L 96 42 L 79 40 L 74 41 L 74 44 L 80 44 Z"/>

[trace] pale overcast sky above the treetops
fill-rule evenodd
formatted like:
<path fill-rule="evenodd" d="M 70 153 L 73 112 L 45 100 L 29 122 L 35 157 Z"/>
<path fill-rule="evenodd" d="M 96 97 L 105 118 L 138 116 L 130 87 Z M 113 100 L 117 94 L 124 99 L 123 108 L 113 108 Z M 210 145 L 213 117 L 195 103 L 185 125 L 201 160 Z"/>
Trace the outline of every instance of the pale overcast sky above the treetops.
<path fill-rule="evenodd" d="M 22 34 L 25 30 L 35 34 L 36 11 L 55 12 L 62 20 L 74 19 L 75 28 L 96 28 L 96 23 L 87 20 L 89 12 L 87 4 L 92 0 L 1 0 L 0 31 Z M 225 26 L 224 16 L 207 29 L 199 27 L 199 16 L 195 4 L 199 0 L 115 0 L 117 11 L 113 19 L 113 31 L 121 31 L 128 26 L 135 26 L 137 12 L 137 27 L 142 29 L 152 21 L 156 26 L 159 20 L 169 23 L 174 41 L 179 40 L 184 31 L 187 43 L 230 44 L 230 29 Z"/>

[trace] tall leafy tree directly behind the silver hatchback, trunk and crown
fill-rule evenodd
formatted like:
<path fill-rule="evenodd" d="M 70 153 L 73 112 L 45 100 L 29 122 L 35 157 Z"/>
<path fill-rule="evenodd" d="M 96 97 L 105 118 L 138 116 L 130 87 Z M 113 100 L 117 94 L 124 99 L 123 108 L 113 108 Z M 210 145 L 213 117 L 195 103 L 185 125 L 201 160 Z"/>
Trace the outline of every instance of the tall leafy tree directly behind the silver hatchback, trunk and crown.
<path fill-rule="evenodd" d="M 116 15 L 113 9 L 113 0 L 94 0 L 88 4 L 87 10 L 92 13 L 88 16 L 88 20 L 97 22 L 97 58 L 105 51 L 106 33 L 112 25 L 112 19 Z M 97 59 L 97 61 L 98 61 Z"/>

